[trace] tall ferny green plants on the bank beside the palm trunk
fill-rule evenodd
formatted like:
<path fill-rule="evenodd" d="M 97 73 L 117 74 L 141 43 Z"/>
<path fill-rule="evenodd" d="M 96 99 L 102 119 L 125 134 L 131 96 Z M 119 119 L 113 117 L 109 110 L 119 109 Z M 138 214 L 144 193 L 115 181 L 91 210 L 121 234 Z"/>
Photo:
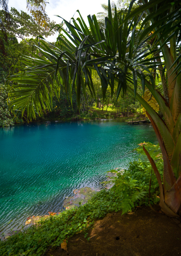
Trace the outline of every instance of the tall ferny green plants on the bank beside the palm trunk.
<path fill-rule="evenodd" d="M 164 164 L 159 145 L 154 145 L 149 142 L 141 144 L 146 144 L 145 147 L 147 147 L 149 153 L 152 154 L 162 179 Z M 142 147 L 136 148 L 135 150 L 139 154 L 144 154 Z M 127 213 L 135 206 L 149 205 L 149 201 L 150 204 L 157 204 L 159 202 L 159 184 L 154 172 L 151 176 L 151 171 L 152 167 L 150 162 L 143 162 L 140 159 L 129 163 L 128 170 L 124 170 L 123 174 L 117 170 L 112 170 L 112 172 L 117 173 L 117 176 L 112 178 L 115 184 L 112 190 L 123 198 L 121 202 L 123 214 Z M 148 191 L 150 178 L 151 186 L 149 199 Z"/>

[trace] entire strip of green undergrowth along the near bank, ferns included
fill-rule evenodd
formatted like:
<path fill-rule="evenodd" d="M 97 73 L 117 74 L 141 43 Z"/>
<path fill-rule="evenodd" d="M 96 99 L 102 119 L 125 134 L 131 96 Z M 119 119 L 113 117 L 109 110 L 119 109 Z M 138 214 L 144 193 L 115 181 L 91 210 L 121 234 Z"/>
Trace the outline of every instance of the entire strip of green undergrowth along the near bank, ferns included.
<path fill-rule="evenodd" d="M 152 144 L 149 146 L 155 147 Z M 141 149 L 138 151 L 142 153 Z M 157 159 L 156 164 L 162 176 L 161 155 Z M 117 172 L 117 170 L 112 170 L 112 172 Z M 64 239 L 76 233 L 84 232 L 87 237 L 87 230 L 93 226 L 94 220 L 104 217 L 109 212 L 122 210 L 123 213 L 127 213 L 136 206 L 148 205 L 150 176 L 149 162 L 138 160 L 130 163 L 128 170 L 125 170 L 122 175 L 118 173 L 117 177 L 113 178 L 115 185 L 112 189 L 103 189 L 95 194 L 87 204 L 63 211 L 55 217 L 50 216 L 49 219 L 41 220 L 34 226 L 1 241 L 0 255 L 41 256 L 50 245 L 60 246 Z M 158 201 L 159 185 L 155 174 L 152 174 L 150 203 L 155 204 Z"/>

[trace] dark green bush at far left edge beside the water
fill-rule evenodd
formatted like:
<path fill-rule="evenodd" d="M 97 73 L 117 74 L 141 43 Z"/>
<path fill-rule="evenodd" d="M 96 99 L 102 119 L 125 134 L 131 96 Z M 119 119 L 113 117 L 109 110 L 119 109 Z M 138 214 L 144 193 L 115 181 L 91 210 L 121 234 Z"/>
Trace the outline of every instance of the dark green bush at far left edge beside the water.
<path fill-rule="evenodd" d="M 7 87 L 0 84 L 0 127 L 13 126 L 14 121 L 7 105 Z"/>

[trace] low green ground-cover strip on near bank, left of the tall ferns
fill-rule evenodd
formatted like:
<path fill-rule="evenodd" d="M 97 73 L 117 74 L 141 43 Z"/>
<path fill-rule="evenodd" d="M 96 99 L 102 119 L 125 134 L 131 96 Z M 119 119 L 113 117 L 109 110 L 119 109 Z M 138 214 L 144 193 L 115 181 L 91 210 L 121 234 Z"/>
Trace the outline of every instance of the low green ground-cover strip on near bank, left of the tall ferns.
<path fill-rule="evenodd" d="M 60 246 L 61 242 L 78 232 L 86 233 L 94 219 L 104 217 L 110 211 L 121 210 L 122 198 L 114 191 L 102 190 L 87 204 L 63 211 L 56 217 L 38 222 L 35 226 L 19 232 L 0 242 L 0 255 L 40 256 L 48 246 Z"/>

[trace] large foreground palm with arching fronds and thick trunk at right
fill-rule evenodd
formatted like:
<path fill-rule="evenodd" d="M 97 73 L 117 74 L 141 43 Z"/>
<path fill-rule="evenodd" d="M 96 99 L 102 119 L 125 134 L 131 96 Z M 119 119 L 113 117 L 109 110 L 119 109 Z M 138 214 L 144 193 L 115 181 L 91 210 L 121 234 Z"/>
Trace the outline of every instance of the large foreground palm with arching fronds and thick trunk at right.
<path fill-rule="evenodd" d="M 113 95 L 116 81 L 117 99 L 121 90 L 123 94 L 128 90 L 147 111 L 164 160 L 162 185 L 156 164 L 144 148 L 159 182 L 161 210 L 169 216 L 178 217 L 181 214 L 181 5 L 178 0 L 142 2 L 135 9 L 132 8 L 134 1 L 131 1 L 123 16 L 117 15 L 115 6 L 113 20 L 109 1 L 105 30 L 99 28 L 95 15 L 88 16 L 89 28 L 81 15 L 77 20 L 71 19 L 73 24 L 64 20 L 66 36 L 57 38 L 57 47 L 51 49 L 42 38 L 42 47 L 36 46 L 41 57 L 38 54 L 33 54 L 32 58 L 22 55 L 26 67 L 9 77 L 9 82 L 13 82 L 9 92 L 10 103 L 16 109 L 27 109 L 31 119 L 35 117 L 33 104 L 37 112 L 45 106 L 50 109 L 49 95 L 58 95 L 60 85 L 70 99 L 72 91 L 76 91 L 78 106 L 81 88 L 86 95 L 88 86 L 95 96 L 92 70 L 97 71 L 100 77 L 103 100 L 108 86 Z M 144 12 L 147 16 L 141 20 Z M 146 25 L 148 22 L 149 27 Z M 157 61 L 155 53 L 160 54 L 160 61 Z M 159 65 L 164 66 L 162 73 L 166 72 L 169 103 L 155 89 L 151 70 Z M 154 96 L 163 119 L 137 93 L 138 79 L 143 94 L 146 86 Z"/>

